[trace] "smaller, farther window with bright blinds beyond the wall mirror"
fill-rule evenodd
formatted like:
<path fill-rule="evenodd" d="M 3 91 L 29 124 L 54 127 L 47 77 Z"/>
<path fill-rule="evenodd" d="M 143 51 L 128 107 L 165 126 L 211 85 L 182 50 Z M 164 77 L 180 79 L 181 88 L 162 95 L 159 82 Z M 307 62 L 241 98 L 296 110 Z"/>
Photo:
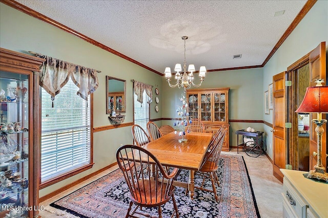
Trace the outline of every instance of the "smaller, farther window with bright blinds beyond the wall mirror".
<path fill-rule="evenodd" d="M 147 99 L 149 99 L 146 91 L 142 93 L 143 102 L 137 101 L 137 95 L 133 94 L 134 96 L 134 124 L 139 125 L 147 132 L 147 123 L 149 122 L 149 104 L 147 103 Z"/>

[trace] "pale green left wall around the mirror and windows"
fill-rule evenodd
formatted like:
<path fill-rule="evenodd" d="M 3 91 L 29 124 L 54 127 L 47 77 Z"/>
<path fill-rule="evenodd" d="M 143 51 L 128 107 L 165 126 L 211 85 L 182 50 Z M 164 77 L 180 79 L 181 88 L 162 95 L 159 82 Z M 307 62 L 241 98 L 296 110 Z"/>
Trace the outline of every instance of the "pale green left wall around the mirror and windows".
<path fill-rule="evenodd" d="M 0 46 L 5 49 L 26 54 L 33 51 L 101 70 L 98 74 L 99 87 L 94 92 L 94 128 L 110 125 L 106 114 L 106 75 L 127 81 L 125 122 L 133 121 L 131 79 L 154 85 L 161 90 L 159 75 L 2 3 L 0 21 Z M 154 102 L 151 104 L 151 118 L 159 118 L 161 113 L 155 112 Z M 116 162 L 115 152 L 120 144 L 132 142 L 131 127 L 94 133 L 94 166 L 86 172 L 40 190 L 40 197 Z"/>

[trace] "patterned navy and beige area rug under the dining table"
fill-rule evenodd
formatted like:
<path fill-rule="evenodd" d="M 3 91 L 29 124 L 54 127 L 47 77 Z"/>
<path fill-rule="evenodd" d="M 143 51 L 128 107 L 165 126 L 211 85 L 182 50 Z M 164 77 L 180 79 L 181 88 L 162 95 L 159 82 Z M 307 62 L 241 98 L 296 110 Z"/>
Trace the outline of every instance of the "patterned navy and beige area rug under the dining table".
<path fill-rule="evenodd" d="M 260 217 L 250 177 L 242 156 L 221 154 L 219 160 L 217 188 L 219 201 L 208 191 L 195 189 L 194 200 L 185 196 L 185 188 L 176 187 L 174 195 L 179 217 Z M 177 178 L 188 181 L 188 172 L 182 171 Z M 201 184 L 202 177 L 195 175 L 195 185 Z M 212 189 L 208 179 L 207 188 Z M 74 191 L 70 195 L 50 204 L 78 217 L 125 217 L 129 207 L 129 189 L 120 169 Z M 156 215 L 156 208 L 143 208 Z M 173 213 L 172 201 L 162 206 L 163 217 Z"/>

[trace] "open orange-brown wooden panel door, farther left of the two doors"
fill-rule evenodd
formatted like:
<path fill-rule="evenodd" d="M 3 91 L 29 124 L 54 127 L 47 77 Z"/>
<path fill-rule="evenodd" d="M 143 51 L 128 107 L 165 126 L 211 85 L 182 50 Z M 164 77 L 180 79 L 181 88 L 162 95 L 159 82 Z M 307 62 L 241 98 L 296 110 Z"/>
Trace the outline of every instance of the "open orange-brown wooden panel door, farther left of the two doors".
<path fill-rule="evenodd" d="M 286 164 L 286 96 L 285 96 L 286 71 L 273 76 L 273 175 L 282 182 L 283 175 L 280 168 Z"/>

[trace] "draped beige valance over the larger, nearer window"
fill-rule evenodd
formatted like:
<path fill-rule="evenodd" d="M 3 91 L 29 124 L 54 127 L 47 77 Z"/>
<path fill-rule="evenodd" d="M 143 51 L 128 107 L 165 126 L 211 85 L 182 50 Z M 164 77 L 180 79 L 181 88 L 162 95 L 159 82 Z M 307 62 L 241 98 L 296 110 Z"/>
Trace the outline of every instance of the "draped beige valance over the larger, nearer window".
<path fill-rule="evenodd" d="M 40 66 L 39 85 L 51 95 L 52 101 L 55 95 L 60 92 L 61 87 L 66 85 L 69 78 L 79 88 L 76 94 L 84 100 L 88 100 L 88 95 L 98 88 L 97 72 L 100 71 L 46 55 L 30 53 L 46 59 Z"/>

